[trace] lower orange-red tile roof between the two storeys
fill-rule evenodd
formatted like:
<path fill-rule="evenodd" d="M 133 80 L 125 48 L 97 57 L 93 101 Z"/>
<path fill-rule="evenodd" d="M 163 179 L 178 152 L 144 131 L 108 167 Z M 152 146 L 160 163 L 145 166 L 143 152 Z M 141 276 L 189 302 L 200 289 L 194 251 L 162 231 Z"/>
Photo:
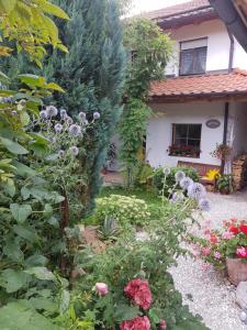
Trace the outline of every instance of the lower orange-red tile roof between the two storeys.
<path fill-rule="evenodd" d="M 247 72 L 234 69 L 227 74 L 186 76 L 154 81 L 149 97 L 162 101 L 207 96 L 244 95 L 247 97 Z"/>

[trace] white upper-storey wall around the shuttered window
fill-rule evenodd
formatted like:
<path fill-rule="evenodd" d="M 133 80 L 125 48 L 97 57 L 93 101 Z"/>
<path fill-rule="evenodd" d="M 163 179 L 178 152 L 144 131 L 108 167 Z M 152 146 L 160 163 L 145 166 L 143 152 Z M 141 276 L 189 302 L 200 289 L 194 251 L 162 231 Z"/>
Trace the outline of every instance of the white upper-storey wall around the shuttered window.
<path fill-rule="evenodd" d="M 167 75 L 178 75 L 179 43 L 187 40 L 207 37 L 206 72 L 228 68 L 229 37 L 221 20 L 206 21 L 201 24 L 190 24 L 172 31 L 167 31 L 175 41 L 175 54 L 167 65 Z M 247 69 L 247 54 L 235 40 L 233 66 Z"/>

